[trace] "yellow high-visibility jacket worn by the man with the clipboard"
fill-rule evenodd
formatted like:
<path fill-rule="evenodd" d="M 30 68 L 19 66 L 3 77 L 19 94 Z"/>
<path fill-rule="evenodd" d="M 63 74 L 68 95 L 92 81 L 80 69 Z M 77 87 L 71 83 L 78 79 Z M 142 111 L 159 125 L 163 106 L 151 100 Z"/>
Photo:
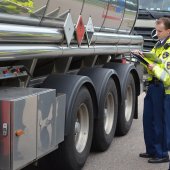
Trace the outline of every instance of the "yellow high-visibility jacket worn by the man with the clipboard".
<path fill-rule="evenodd" d="M 155 46 L 151 52 L 155 53 L 162 63 L 149 62 L 153 63 L 154 67 L 152 71 L 148 70 L 148 73 L 161 80 L 165 87 L 165 93 L 170 94 L 170 37 L 163 46 Z"/>

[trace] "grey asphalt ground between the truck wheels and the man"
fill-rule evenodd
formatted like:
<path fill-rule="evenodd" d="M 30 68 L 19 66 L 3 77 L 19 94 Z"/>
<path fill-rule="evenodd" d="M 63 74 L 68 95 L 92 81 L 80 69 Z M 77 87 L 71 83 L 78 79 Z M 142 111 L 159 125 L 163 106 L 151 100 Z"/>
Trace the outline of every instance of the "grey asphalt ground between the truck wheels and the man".
<path fill-rule="evenodd" d="M 142 114 L 144 93 L 139 96 L 139 119 L 133 120 L 129 133 L 115 137 L 103 153 L 91 153 L 83 170 L 168 170 L 168 163 L 150 164 L 138 155 L 145 151 Z"/>

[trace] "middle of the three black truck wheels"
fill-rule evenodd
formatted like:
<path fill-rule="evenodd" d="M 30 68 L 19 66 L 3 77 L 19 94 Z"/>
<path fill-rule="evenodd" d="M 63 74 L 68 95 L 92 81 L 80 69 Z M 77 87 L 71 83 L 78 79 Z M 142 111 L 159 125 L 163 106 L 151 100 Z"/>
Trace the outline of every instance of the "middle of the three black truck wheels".
<path fill-rule="evenodd" d="M 107 100 L 108 99 L 108 100 Z M 110 101 L 110 115 L 112 120 L 109 125 L 107 123 L 107 119 L 105 113 L 107 102 Z M 108 109 L 108 108 L 107 108 Z M 109 110 L 109 109 L 108 109 Z M 116 130 L 116 122 L 117 122 L 117 114 L 118 114 L 118 95 L 117 88 L 115 82 L 112 78 L 110 78 L 107 82 L 105 89 L 103 89 L 103 93 L 100 97 L 99 101 L 99 114 L 101 115 L 99 119 L 95 120 L 94 125 L 94 136 L 93 136 L 93 149 L 95 151 L 105 151 L 110 146 Z M 114 112 L 114 113 L 113 113 Z M 109 118 L 109 117 L 108 117 Z"/>

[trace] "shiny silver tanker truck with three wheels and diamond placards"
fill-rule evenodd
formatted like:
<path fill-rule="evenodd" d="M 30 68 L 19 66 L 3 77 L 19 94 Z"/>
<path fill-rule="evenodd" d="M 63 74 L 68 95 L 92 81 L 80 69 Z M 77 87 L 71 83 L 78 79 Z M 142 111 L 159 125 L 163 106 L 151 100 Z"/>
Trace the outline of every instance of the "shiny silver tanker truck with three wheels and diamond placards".
<path fill-rule="evenodd" d="M 142 90 L 137 12 L 137 0 L 0 1 L 0 170 L 45 157 L 79 170 L 128 133 Z"/>

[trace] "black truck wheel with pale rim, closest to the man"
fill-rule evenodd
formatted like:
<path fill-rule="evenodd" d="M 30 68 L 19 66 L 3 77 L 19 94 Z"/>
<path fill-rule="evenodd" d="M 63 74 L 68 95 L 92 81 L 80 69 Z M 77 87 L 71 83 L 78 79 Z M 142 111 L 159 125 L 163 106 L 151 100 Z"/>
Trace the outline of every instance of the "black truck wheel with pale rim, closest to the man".
<path fill-rule="evenodd" d="M 125 85 L 125 98 L 122 99 L 122 105 L 118 114 L 118 122 L 116 128 L 116 135 L 123 136 L 128 133 L 132 125 L 135 103 L 136 103 L 135 82 L 132 74 L 129 74 Z"/>

